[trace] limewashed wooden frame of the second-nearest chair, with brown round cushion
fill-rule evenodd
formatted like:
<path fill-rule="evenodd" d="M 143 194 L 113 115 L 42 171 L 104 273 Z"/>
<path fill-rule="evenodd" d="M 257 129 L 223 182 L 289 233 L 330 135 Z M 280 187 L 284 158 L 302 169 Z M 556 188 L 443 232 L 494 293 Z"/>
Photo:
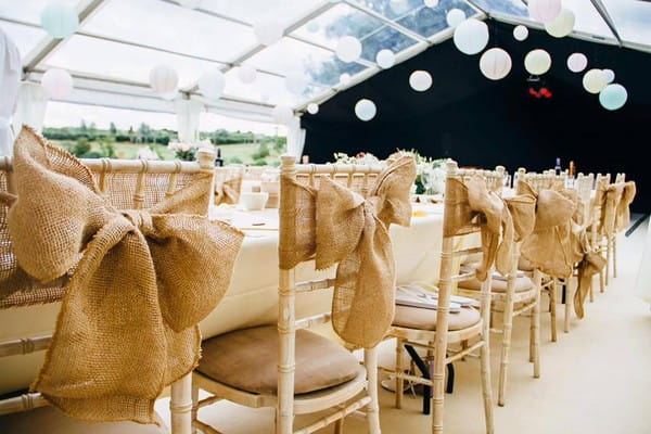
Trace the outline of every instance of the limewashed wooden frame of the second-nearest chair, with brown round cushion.
<path fill-rule="evenodd" d="M 382 167 L 363 165 L 297 165 L 293 156 L 283 155 L 281 177 L 296 180 L 310 187 L 316 187 L 321 177 L 336 179 L 337 182 L 366 196 L 373 186 L 373 179 L 382 171 Z M 282 183 L 281 183 L 282 186 Z M 280 220 L 283 216 L 296 215 L 302 209 L 296 207 L 295 199 L 288 199 L 286 191 L 282 190 L 280 206 Z M 279 237 L 283 237 L 281 225 Z M 310 329 L 315 326 L 326 324 L 331 320 L 331 312 L 323 312 L 312 317 L 297 319 L 295 317 L 295 298 L 312 291 L 329 290 L 334 285 L 334 279 L 322 279 L 308 282 L 296 282 L 295 268 L 290 270 L 279 269 L 278 289 L 278 394 L 254 394 L 219 383 L 199 371 L 193 376 L 193 422 L 194 427 L 205 434 L 219 434 L 219 431 L 197 419 L 199 409 L 227 399 L 232 403 L 251 407 L 276 408 L 277 434 L 308 434 L 317 432 L 332 423 L 335 432 L 343 433 L 343 421 L 348 414 L 366 416 L 368 430 L 371 434 L 380 434 L 380 418 L 378 404 L 378 356 L 375 348 L 363 350 L 363 368 L 357 378 L 335 387 L 317 391 L 303 395 L 294 393 L 294 374 L 296 371 L 295 342 L 296 330 Z M 212 396 L 199 399 L 199 390 L 204 390 Z M 359 411 L 366 407 L 366 413 Z M 294 427 L 295 414 L 316 413 L 334 409 L 333 412 L 307 426 Z"/>

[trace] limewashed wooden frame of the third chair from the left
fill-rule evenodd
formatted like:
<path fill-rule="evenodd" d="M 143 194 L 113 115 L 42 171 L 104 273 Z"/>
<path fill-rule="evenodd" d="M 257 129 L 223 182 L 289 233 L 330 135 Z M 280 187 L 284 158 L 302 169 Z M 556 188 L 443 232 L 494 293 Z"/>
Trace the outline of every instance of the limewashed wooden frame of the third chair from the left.
<path fill-rule="evenodd" d="M 449 179 L 461 179 L 475 175 L 483 176 L 487 181 L 488 189 L 500 191 L 503 187 L 503 171 L 490 171 L 478 169 L 459 169 L 456 162 L 447 164 L 447 176 Z M 449 182 L 448 182 L 449 186 Z M 446 202 L 445 207 L 449 205 Z M 452 213 L 444 210 L 444 220 L 451 218 Z M 445 226 L 445 222 L 444 222 Z M 482 391 L 484 399 L 484 412 L 486 418 L 486 432 L 494 432 L 493 421 L 493 392 L 490 386 L 490 356 L 489 356 L 489 323 L 490 323 L 490 284 L 494 267 L 488 271 L 488 278 L 482 283 L 481 291 L 481 319 L 477 323 L 461 330 L 450 331 L 448 329 L 450 296 L 457 291 L 459 281 L 469 279 L 474 272 L 460 272 L 461 259 L 468 255 L 482 252 L 482 247 L 459 247 L 459 238 L 470 233 L 478 232 L 478 225 L 471 225 L 460 233 L 443 238 L 443 251 L 441 260 L 441 275 L 438 282 L 438 307 L 436 309 L 436 331 L 411 329 L 393 326 L 387 337 L 396 337 L 396 367 L 395 370 L 385 370 L 395 375 L 396 379 L 396 408 L 403 407 L 404 382 L 408 380 L 413 383 L 433 387 L 432 394 L 432 433 L 443 433 L 443 414 L 445 397 L 445 370 L 446 366 L 455 360 L 462 359 L 480 350 Z M 446 332 L 441 333 L 439 331 Z M 471 340 L 476 342 L 470 343 Z M 450 344 L 459 344 L 461 349 L 451 352 Z M 427 358 L 433 360 L 432 379 L 424 379 L 405 373 L 403 366 L 405 345 L 421 348 L 427 352 Z"/>

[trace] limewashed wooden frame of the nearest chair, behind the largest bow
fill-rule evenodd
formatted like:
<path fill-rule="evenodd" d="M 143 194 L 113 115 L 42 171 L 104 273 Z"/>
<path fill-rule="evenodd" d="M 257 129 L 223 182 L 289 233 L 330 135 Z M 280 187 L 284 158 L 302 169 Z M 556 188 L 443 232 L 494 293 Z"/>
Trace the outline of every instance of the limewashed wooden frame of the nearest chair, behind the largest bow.
<path fill-rule="evenodd" d="M 214 173 L 215 153 L 201 150 L 196 162 L 158 162 L 144 159 L 81 159 L 92 173 L 95 182 L 108 201 L 118 208 L 140 209 L 150 207 L 165 196 L 190 182 L 200 173 Z M 12 177 L 12 161 L 0 157 L 0 189 L 15 193 Z M 206 194 L 213 195 L 210 186 Z M 62 204 L 63 205 L 63 204 Z M 0 231 L 5 231 L 4 222 Z M 7 238 L 9 239 L 9 238 Z M 1 266 L 1 264 L 0 264 Z M 61 282 L 64 283 L 63 281 Z M 63 292 L 63 289 L 62 289 Z M 0 357 L 27 355 L 48 348 L 52 336 L 25 336 L 0 342 Z M 191 374 L 171 384 L 171 433 L 191 432 Z M 0 414 L 28 411 L 48 406 L 39 393 L 25 393 L 0 400 Z"/>

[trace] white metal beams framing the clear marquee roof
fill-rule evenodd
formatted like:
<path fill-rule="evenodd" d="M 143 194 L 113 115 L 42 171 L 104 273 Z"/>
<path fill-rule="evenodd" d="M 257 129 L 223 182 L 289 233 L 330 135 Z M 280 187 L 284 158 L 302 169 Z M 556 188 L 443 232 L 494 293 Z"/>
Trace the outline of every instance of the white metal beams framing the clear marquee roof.
<path fill-rule="evenodd" d="M 141 43 L 138 41 L 129 41 L 120 38 L 103 36 L 99 34 L 93 34 L 90 31 L 86 31 L 84 29 L 84 24 L 89 21 L 98 11 L 108 2 L 110 0 L 81 0 L 77 5 L 77 11 L 79 14 L 79 28 L 75 35 L 85 36 L 88 38 L 104 40 L 114 43 L 120 43 L 130 47 L 137 47 L 148 50 L 154 50 L 162 53 L 174 54 L 181 58 L 194 59 L 199 61 L 214 63 L 218 66 L 224 73 L 232 69 L 235 66 L 243 64 L 245 61 L 250 60 L 257 53 L 260 53 L 267 47 L 264 44 L 256 44 L 254 47 L 247 48 L 244 52 L 237 55 L 234 60 L 230 62 L 225 62 L 218 59 L 212 59 L 201 55 L 195 55 L 187 52 L 181 52 L 177 50 L 169 50 L 161 47 L 155 47 L 146 43 Z M 158 0 L 161 2 L 179 5 L 179 2 L 174 0 Z M 487 0 L 488 2 L 490 0 Z M 526 4 L 526 0 L 521 0 L 524 4 Z M 635 43 L 630 41 L 624 41 L 621 37 L 621 34 L 610 15 L 607 7 L 604 5 L 602 0 L 590 0 L 595 10 L 599 13 L 600 17 L 603 20 L 614 38 L 602 37 L 598 35 L 582 33 L 582 31 L 572 31 L 570 37 L 578 38 L 583 40 L 588 40 L 597 43 L 607 43 L 607 44 L 616 44 L 623 48 L 639 50 L 651 53 L 651 41 L 650 44 Z M 294 35 L 294 30 L 301 28 L 309 21 L 319 17 L 323 13 L 331 10 L 333 7 L 344 3 L 358 11 L 363 13 L 374 20 L 378 20 L 382 23 L 382 26 L 371 31 L 369 35 L 366 35 L 361 39 L 366 39 L 376 34 L 378 31 L 384 28 L 392 28 L 394 30 L 399 31 L 400 34 L 407 36 L 408 38 L 416 40 L 417 42 L 411 47 L 403 50 L 401 52 L 396 54 L 396 63 L 404 62 L 420 52 L 426 50 L 429 47 L 433 44 L 441 43 L 452 36 L 454 29 L 447 27 L 439 33 L 431 36 L 424 37 L 417 31 L 413 31 L 401 24 L 398 23 L 398 18 L 390 20 L 383 14 L 374 11 L 362 2 L 358 2 L 355 0 L 341 0 L 331 1 L 331 0 L 322 0 L 316 4 L 312 9 L 308 10 L 305 14 L 297 17 L 292 24 L 290 24 L 285 29 L 283 36 L 285 38 L 298 41 L 304 44 L 316 47 L 320 50 L 326 50 L 331 53 L 334 53 L 334 50 L 330 47 L 323 46 L 321 43 L 317 43 L 315 41 L 308 40 L 301 36 Z M 523 24 L 527 27 L 532 28 L 544 28 L 540 23 L 536 23 L 528 18 L 523 18 L 520 16 L 513 16 L 500 13 L 498 11 L 492 10 L 490 8 L 482 8 L 477 0 L 465 0 L 465 3 L 469 4 L 476 14 L 473 16 L 478 20 L 493 18 L 498 22 L 509 23 L 509 24 Z M 180 5 L 179 5 L 180 7 Z M 424 5 L 421 8 L 425 8 Z M 231 23 L 237 23 L 242 26 L 252 27 L 252 24 L 243 22 L 232 16 L 228 16 L 226 14 L 220 14 L 218 12 L 197 8 L 194 9 L 196 13 L 206 14 L 209 16 L 214 16 L 216 18 L 225 20 Z M 413 10 L 410 10 L 409 13 L 412 13 Z M 15 18 L 10 18 L 0 15 L 0 23 L 7 22 L 10 24 L 28 26 L 28 27 L 40 27 L 37 24 L 28 23 Z M 651 25 L 651 16 L 650 16 L 650 25 Z M 10 35 L 11 36 L 11 35 Z M 26 81 L 38 82 L 40 81 L 40 77 L 44 73 L 43 64 L 47 62 L 48 58 L 51 56 L 58 49 L 60 49 L 66 39 L 54 39 L 52 37 L 44 37 L 23 60 L 23 78 Z M 361 66 L 365 66 L 365 69 L 360 73 L 354 75 L 352 80 L 346 84 L 337 84 L 335 86 L 326 86 L 318 82 L 311 82 L 310 85 L 315 89 L 321 90 L 316 97 L 310 99 L 309 101 L 305 101 L 296 106 L 294 110 L 297 114 L 301 114 L 302 111 L 306 108 L 306 106 L 310 102 L 322 103 L 328 99 L 332 98 L 336 93 L 342 90 L 355 86 L 369 77 L 378 74 L 382 71 L 382 68 L 375 64 L 374 62 L 370 62 L 368 60 L 360 59 L 356 61 Z M 258 72 L 265 73 L 275 77 L 284 78 L 283 75 L 257 68 Z M 75 79 L 75 91 L 73 94 L 65 100 L 65 102 L 73 102 L 79 104 L 88 104 L 88 105 L 102 105 L 117 108 L 131 108 L 131 110 L 140 110 L 140 111 L 150 111 L 150 112 L 163 112 L 163 113 L 175 113 L 174 103 L 171 101 L 166 101 L 161 97 L 156 95 L 149 87 L 146 82 L 132 81 L 127 79 L 115 79 L 108 76 L 88 74 L 84 72 L 75 72 L 69 71 L 72 76 Z M 269 103 L 263 103 L 259 101 L 248 100 L 246 98 L 235 97 L 235 95 L 224 95 L 218 101 L 208 101 L 204 99 L 196 85 L 191 85 L 179 89 L 179 98 L 188 99 L 188 100 L 199 100 L 201 101 L 208 112 L 222 114 L 232 117 L 245 118 L 257 122 L 271 122 L 271 111 L 273 105 Z"/>

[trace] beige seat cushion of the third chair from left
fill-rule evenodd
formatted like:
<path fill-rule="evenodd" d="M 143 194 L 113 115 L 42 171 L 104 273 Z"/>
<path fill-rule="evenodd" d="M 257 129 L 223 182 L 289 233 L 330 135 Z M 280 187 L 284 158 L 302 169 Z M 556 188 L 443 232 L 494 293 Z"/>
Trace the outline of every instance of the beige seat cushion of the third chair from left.
<path fill-rule="evenodd" d="M 448 315 L 448 330 L 462 330 L 480 322 L 482 317 L 477 309 L 461 308 L 461 311 Z M 436 330 L 436 310 L 422 307 L 396 306 L 394 326 L 407 329 Z"/>

